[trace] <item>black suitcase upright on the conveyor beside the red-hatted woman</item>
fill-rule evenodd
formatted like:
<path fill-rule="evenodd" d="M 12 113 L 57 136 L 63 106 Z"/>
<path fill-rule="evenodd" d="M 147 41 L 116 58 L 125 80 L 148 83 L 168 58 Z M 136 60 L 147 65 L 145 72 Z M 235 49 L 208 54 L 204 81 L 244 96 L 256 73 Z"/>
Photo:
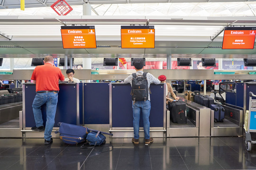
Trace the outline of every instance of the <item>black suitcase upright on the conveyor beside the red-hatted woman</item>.
<path fill-rule="evenodd" d="M 183 101 L 168 102 L 170 110 L 170 119 L 174 123 L 187 123 L 186 118 L 186 103 Z"/>

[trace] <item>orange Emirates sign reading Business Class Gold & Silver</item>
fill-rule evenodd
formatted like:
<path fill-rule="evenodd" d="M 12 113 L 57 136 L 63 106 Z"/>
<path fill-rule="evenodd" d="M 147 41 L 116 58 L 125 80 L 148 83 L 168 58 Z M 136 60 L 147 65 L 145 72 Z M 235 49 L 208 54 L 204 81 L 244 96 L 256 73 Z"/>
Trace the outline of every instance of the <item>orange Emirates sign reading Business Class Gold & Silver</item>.
<path fill-rule="evenodd" d="M 96 48 L 94 26 L 61 26 L 64 49 Z"/>

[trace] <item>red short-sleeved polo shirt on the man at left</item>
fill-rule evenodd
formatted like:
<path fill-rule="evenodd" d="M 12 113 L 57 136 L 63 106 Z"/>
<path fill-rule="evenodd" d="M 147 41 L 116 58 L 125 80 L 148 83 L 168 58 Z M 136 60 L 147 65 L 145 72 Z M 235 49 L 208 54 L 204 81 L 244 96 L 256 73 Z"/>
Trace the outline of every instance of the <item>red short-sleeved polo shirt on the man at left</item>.
<path fill-rule="evenodd" d="M 64 79 L 61 69 L 51 63 L 37 66 L 31 76 L 31 80 L 36 80 L 36 91 L 59 91 L 59 80 Z"/>

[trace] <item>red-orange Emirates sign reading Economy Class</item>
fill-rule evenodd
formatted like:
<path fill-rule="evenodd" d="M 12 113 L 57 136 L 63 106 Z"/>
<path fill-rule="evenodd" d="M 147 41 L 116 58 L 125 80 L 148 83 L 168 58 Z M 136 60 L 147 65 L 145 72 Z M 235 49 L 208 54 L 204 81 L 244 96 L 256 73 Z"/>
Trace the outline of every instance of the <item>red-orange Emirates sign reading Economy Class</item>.
<path fill-rule="evenodd" d="M 256 27 L 225 27 L 222 49 L 253 49 Z"/>

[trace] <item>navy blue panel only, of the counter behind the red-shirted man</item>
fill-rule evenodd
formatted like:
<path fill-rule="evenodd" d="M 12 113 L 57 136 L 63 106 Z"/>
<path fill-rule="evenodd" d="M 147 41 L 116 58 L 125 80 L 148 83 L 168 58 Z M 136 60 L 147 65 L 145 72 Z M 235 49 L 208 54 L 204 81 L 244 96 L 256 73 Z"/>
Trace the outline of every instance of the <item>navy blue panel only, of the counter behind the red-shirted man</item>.
<path fill-rule="evenodd" d="M 77 124 L 77 86 L 75 84 L 60 84 L 58 93 L 58 104 L 55 114 L 55 125 L 59 127 L 58 122 Z M 81 84 L 82 87 L 82 84 Z M 81 89 L 82 90 L 82 89 Z M 36 85 L 25 84 L 25 114 L 26 127 L 34 127 L 36 125 L 32 103 L 36 95 Z M 81 101 L 80 101 L 81 100 Z M 82 98 L 79 102 L 82 102 Z M 82 112 L 82 111 L 81 111 Z M 46 123 L 46 104 L 42 106 L 42 116 L 44 125 Z M 81 122 L 81 120 L 80 120 Z"/>

